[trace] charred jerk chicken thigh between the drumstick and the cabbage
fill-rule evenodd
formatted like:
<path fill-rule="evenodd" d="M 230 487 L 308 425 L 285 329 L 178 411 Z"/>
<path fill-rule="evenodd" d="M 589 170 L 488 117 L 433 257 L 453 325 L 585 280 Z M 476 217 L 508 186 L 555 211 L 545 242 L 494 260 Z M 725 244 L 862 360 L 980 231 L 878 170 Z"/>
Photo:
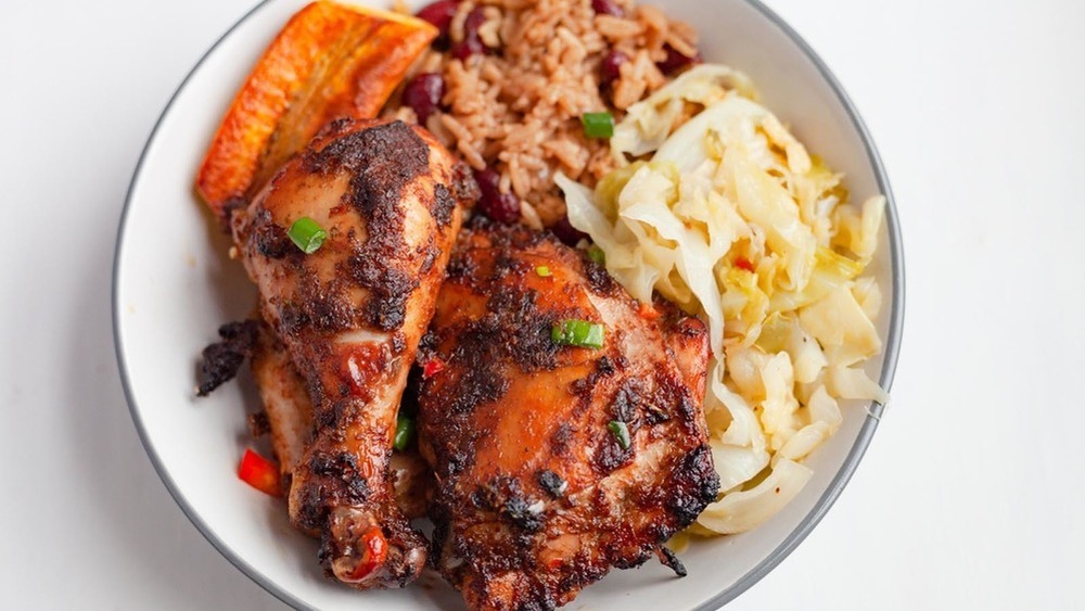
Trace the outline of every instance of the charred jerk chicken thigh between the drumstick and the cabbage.
<path fill-rule="evenodd" d="M 566 320 L 601 323 L 602 347 L 556 343 Z M 640 305 L 580 251 L 472 221 L 419 351 L 418 420 L 435 563 L 470 608 L 553 609 L 611 567 L 674 560 L 662 544 L 719 487 L 707 356 L 700 321 Z"/>

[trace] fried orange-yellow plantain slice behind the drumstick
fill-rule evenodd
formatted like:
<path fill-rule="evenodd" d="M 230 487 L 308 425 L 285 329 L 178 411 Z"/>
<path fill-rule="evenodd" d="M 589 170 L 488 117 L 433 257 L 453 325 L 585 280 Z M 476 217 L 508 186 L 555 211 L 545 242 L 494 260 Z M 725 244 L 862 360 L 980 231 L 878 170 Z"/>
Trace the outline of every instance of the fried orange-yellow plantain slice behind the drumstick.
<path fill-rule="evenodd" d="M 238 91 L 207 148 L 196 192 L 219 219 L 258 191 L 329 120 L 371 118 L 437 29 L 318 0 L 290 18 Z"/>

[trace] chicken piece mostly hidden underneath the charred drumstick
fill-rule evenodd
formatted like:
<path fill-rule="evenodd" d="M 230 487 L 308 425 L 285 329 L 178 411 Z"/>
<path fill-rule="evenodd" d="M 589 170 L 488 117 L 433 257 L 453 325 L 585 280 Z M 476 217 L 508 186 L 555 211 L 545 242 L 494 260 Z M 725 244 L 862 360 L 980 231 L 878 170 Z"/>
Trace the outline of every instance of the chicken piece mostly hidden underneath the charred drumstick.
<path fill-rule="evenodd" d="M 271 447 L 279 460 L 282 489 L 290 491 L 294 468 L 312 438 L 312 402 L 286 347 L 263 321 L 253 349 L 253 379 L 259 390 Z M 388 474 L 396 505 L 407 518 L 421 518 L 433 492 L 433 474 L 417 448 L 394 451 Z"/>

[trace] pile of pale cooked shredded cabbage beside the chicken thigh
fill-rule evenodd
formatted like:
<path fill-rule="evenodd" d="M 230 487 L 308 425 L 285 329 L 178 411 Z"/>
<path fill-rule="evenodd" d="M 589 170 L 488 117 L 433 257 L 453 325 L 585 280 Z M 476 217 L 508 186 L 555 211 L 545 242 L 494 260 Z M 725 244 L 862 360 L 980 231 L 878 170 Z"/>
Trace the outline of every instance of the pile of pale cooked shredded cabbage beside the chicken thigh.
<path fill-rule="evenodd" d="M 621 167 L 595 190 L 557 177 L 570 222 L 635 297 L 659 292 L 706 321 L 722 493 L 691 531 L 748 531 L 809 481 L 801 461 L 840 428 L 839 399 L 889 398 L 861 369 L 882 347 L 881 293 L 863 273 L 885 199 L 848 205 L 841 175 L 723 65 L 630 106 L 610 145 Z"/>

